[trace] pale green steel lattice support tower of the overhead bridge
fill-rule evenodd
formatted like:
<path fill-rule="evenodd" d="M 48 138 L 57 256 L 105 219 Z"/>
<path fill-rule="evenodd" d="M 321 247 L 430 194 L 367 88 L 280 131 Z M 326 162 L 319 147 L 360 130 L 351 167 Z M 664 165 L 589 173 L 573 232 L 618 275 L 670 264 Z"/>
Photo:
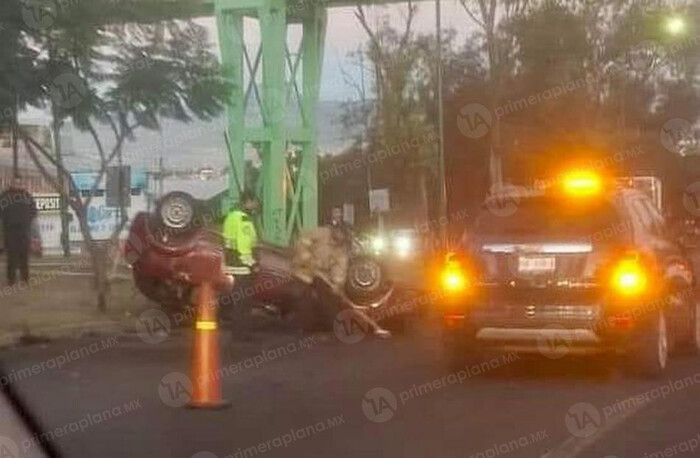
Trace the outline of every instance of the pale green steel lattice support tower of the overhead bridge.
<path fill-rule="evenodd" d="M 244 152 L 254 145 L 263 164 L 263 238 L 284 245 L 296 229 L 318 224 L 317 106 L 326 11 L 398 1 L 110 0 L 105 17 L 111 22 L 216 17 L 223 72 L 233 87 L 227 113 L 229 197 L 236 201 L 246 182 Z M 261 43 L 256 53 L 246 46 L 246 17 L 259 23 Z M 287 39 L 290 24 L 302 29 L 301 44 L 295 50 Z M 258 105 L 260 125 L 246 122 L 250 103 Z M 290 104 L 299 113 L 295 125 L 289 121 Z M 298 153 L 292 167 L 287 160 L 290 151 Z"/>

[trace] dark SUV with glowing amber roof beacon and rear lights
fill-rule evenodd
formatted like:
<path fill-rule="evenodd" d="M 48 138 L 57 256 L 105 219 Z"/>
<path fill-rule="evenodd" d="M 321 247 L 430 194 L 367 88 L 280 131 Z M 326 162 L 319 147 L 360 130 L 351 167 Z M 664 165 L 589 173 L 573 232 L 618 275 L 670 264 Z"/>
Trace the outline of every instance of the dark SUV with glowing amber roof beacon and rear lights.
<path fill-rule="evenodd" d="M 576 175 L 485 202 L 440 272 L 451 364 L 613 352 L 653 376 L 670 353 L 698 352 L 691 264 L 645 193 L 605 183 Z"/>

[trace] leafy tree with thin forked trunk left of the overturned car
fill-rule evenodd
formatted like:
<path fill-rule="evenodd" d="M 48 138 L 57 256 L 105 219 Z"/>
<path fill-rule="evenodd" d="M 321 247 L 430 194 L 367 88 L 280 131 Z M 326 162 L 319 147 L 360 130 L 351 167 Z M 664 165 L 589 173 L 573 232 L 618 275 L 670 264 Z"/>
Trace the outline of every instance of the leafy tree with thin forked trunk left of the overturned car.
<path fill-rule="evenodd" d="M 26 132 L 20 136 L 34 163 L 76 215 L 94 269 L 98 308 L 104 310 L 109 294 L 107 252 L 91 235 L 87 210 L 107 167 L 120 159 L 124 143 L 134 140 L 138 129 L 158 129 L 161 118 L 216 116 L 225 107 L 229 87 L 202 26 L 192 21 L 108 26 L 100 25 L 99 19 L 99 5 L 83 2 L 32 36 L 40 56 L 34 61 L 42 75 L 40 101 L 50 103 L 54 125 L 60 129 L 71 119 L 94 140 L 99 165 L 88 195 L 81 195 L 60 156 Z M 109 127 L 111 138 L 100 136 L 98 123 Z M 121 210 L 112 244 L 127 222 Z"/>

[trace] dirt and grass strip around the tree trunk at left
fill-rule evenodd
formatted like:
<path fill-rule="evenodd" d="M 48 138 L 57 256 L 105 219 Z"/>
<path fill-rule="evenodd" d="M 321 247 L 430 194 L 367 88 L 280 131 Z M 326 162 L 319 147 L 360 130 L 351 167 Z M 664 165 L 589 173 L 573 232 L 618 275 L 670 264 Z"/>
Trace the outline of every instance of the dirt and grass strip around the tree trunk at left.
<path fill-rule="evenodd" d="M 33 259 L 28 285 L 9 287 L 0 257 L 0 347 L 85 334 L 118 334 L 152 305 L 128 273 L 112 282 L 107 311 L 97 311 L 92 274 L 85 259 Z"/>

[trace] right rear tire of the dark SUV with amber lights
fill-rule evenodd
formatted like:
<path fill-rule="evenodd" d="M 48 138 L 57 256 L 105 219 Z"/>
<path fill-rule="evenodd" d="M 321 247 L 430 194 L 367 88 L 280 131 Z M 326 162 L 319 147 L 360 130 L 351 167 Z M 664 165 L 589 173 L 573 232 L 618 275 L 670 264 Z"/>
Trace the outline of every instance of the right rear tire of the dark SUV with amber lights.
<path fill-rule="evenodd" d="M 635 376 L 656 378 L 664 372 L 669 357 L 669 331 L 663 310 L 639 322 L 627 357 L 627 369 Z"/>

